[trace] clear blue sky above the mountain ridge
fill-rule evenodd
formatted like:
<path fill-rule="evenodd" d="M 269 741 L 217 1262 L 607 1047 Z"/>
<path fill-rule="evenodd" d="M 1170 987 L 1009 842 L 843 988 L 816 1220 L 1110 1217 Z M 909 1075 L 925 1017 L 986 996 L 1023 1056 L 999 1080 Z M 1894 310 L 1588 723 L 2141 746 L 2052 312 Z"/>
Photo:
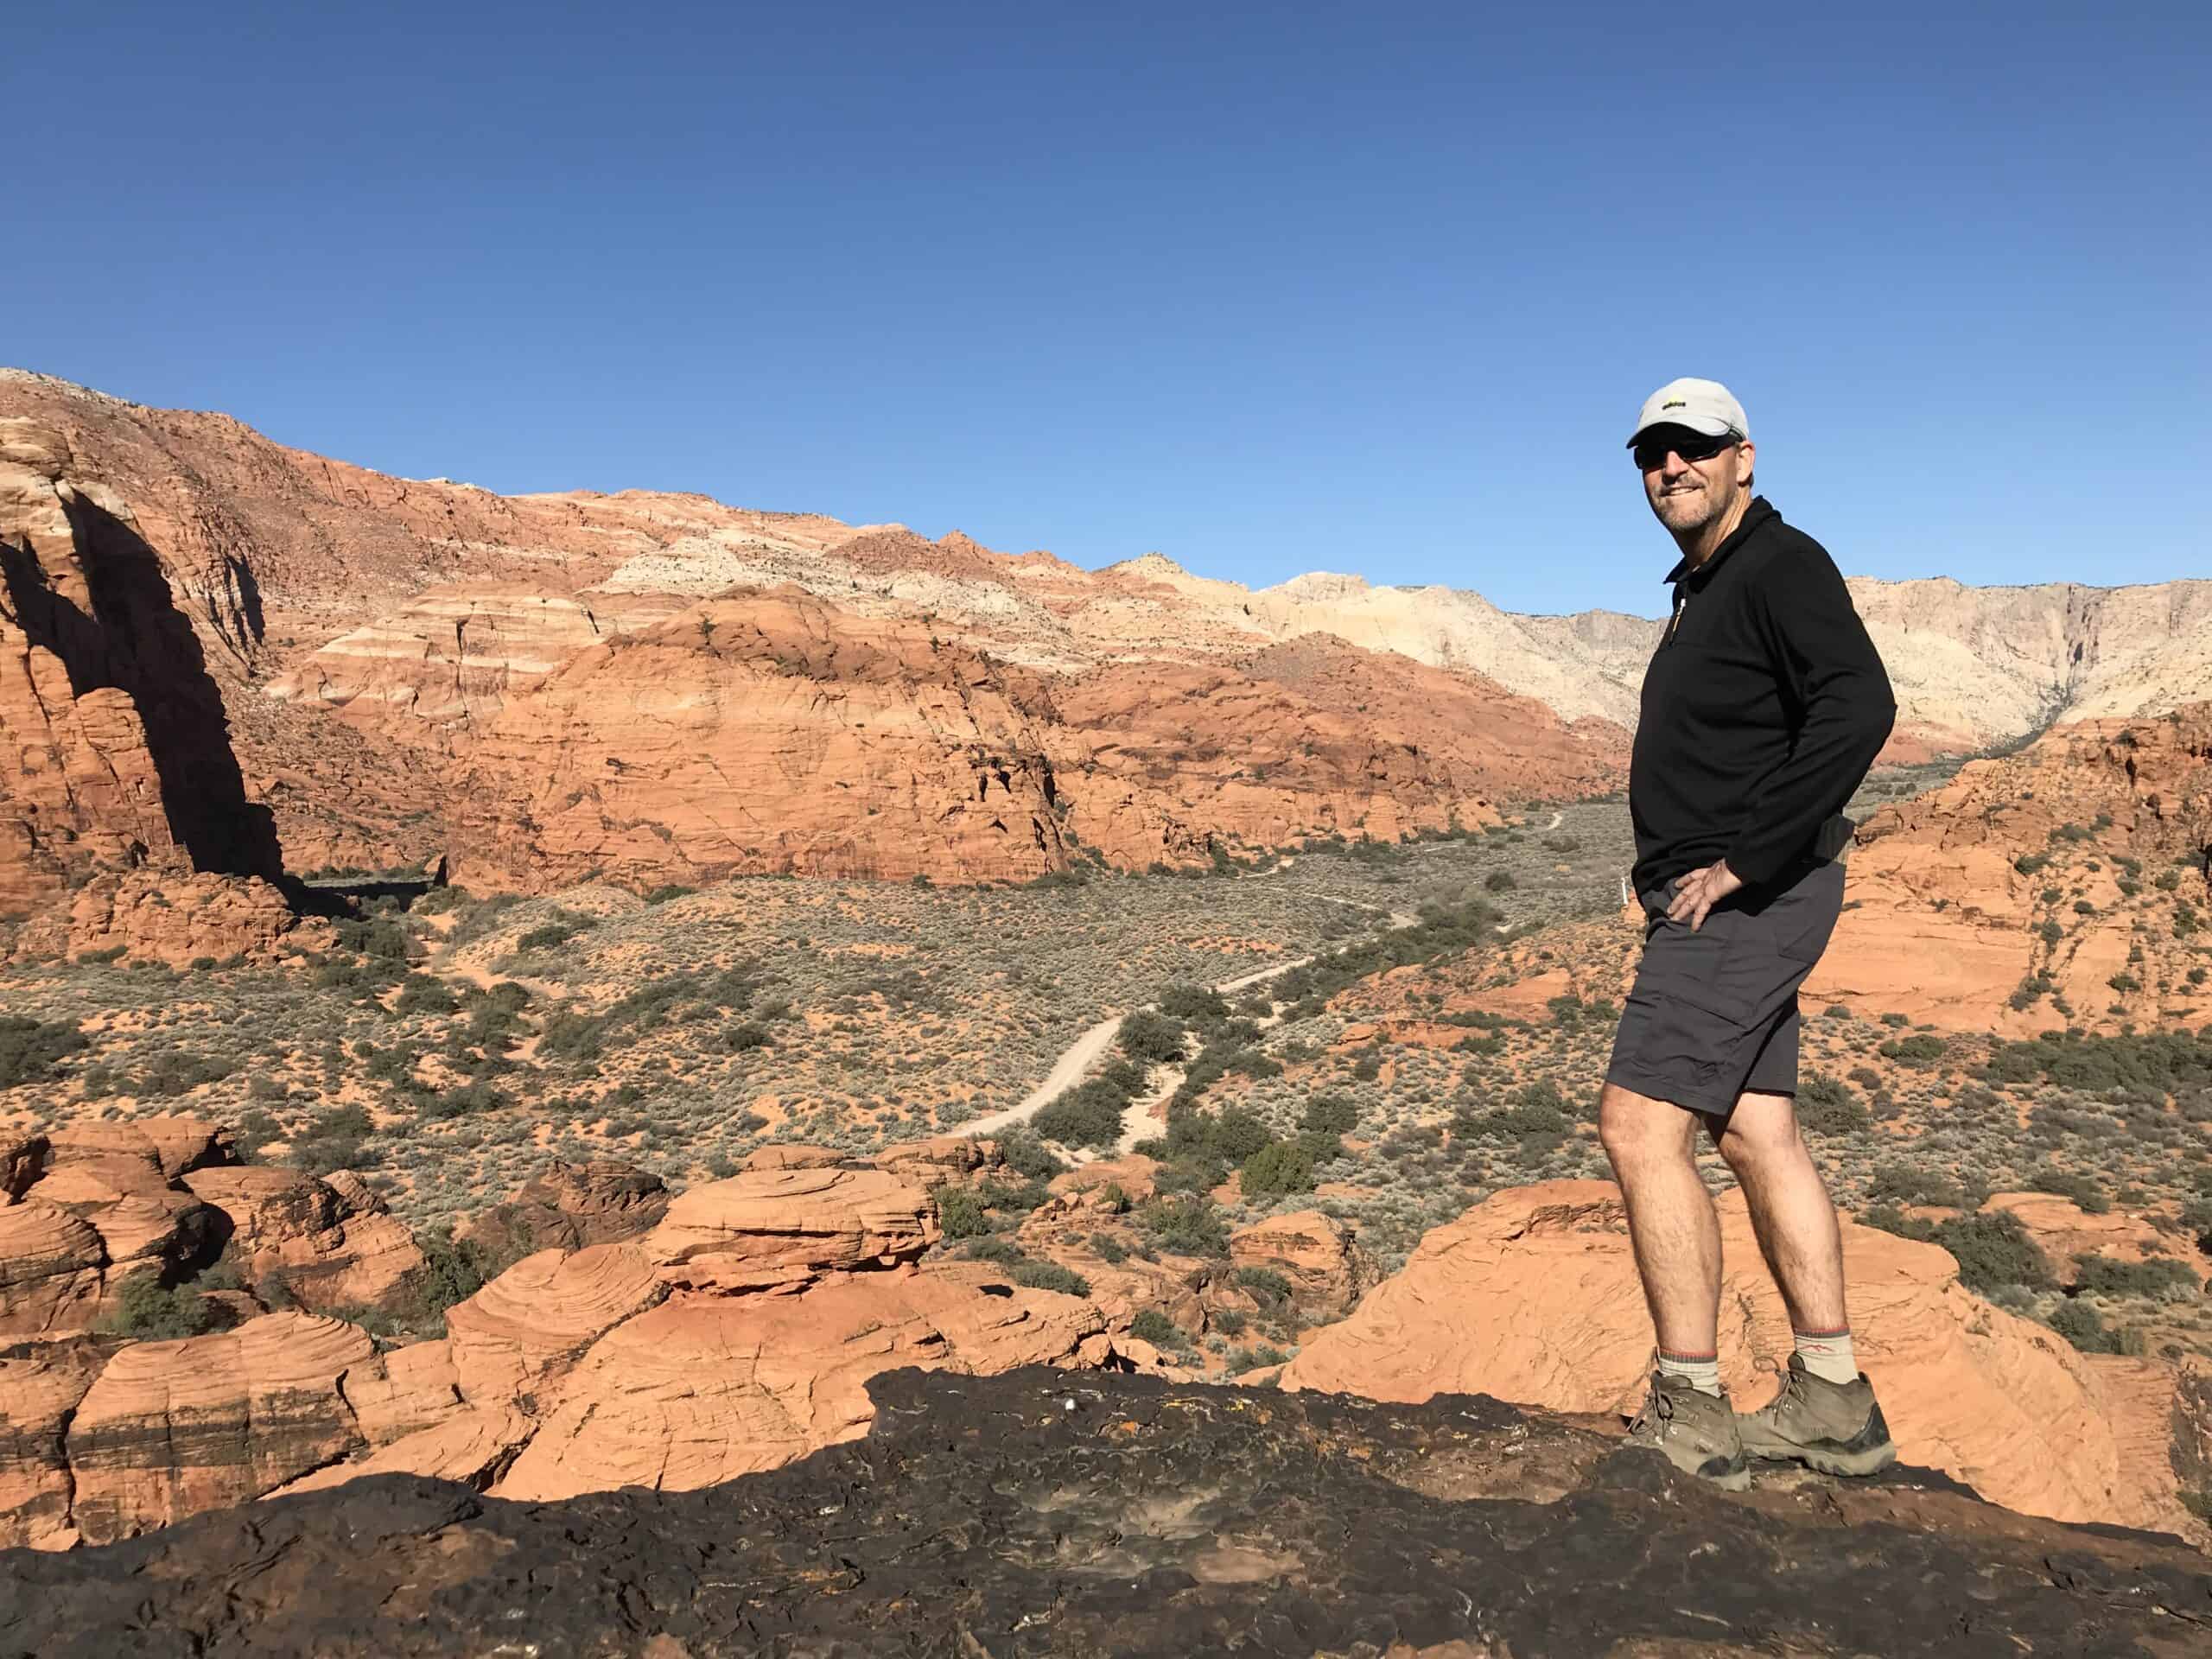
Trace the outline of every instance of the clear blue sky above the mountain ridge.
<path fill-rule="evenodd" d="M 49 7 L 0 363 L 502 491 L 1661 611 L 2212 575 L 2212 7 Z M 1816 9 L 1805 7 L 1805 13 Z"/>

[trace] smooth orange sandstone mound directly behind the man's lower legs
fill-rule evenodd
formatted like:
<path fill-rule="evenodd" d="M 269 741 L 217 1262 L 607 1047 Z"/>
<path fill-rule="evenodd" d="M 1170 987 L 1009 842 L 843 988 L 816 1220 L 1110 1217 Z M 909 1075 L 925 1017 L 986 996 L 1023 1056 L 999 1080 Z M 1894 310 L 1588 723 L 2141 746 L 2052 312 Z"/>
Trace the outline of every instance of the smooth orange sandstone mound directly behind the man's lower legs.
<path fill-rule="evenodd" d="M 1772 1394 L 1754 1360 L 1790 1354 L 1790 1323 L 1759 1261 L 1741 1192 L 1721 1199 L 1721 1376 L 1747 1409 Z M 1851 1327 L 1898 1455 L 1958 1475 L 2008 1509 L 2212 1537 L 2177 1498 L 2170 1369 L 2143 1422 L 2143 1363 L 2101 1363 L 1958 1283 L 1936 1245 L 1845 1221 Z M 1285 1367 L 1285 1389 L 1380 1400 L 1495 1394 L 1557 1411 L 1632 1409 L 1650 1318 L 1608 1181 L 1509 1188 L 1429 1232 L 1405 1270 Z M 2115 1398 L 2117 1385 L 2126 1402 Z M 2121 1427 L 2130 1425 L 2130 1427 Z M 2146 1444 L 2148 1440 L 2148 1444 Z"/>

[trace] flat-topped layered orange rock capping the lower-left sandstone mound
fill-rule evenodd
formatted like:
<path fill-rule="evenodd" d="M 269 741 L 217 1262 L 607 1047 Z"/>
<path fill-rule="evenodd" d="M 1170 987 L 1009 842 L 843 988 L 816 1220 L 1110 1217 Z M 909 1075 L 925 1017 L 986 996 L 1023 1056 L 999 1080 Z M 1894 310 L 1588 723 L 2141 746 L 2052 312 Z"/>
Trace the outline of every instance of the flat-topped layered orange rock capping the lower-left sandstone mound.
<path fill-rule="evenodd" d="M 794 1290 L 911 1261 L 938 1232 L 929 1197 L 883 1170 L 750 1170 L 684 1192 L 641 1248 L 684 1290 Z"/>

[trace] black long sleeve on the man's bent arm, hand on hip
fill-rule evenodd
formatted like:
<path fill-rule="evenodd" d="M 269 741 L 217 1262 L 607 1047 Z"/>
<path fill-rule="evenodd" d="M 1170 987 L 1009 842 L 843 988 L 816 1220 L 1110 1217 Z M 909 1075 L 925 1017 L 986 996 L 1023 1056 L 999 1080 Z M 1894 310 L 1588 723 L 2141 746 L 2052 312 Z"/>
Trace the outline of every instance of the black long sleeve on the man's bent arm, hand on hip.
<path fill-rule="evenodd" d="M 1728 849 L 1728 867 L 1752 885 L 1774 880 L 1843 812 L 1898 717 L 1889 672 L 1827 551 L 1792 538 L 1761 575 L 1752 606 L 1803 726 L 1790 757 L 1752 790 Z"/>

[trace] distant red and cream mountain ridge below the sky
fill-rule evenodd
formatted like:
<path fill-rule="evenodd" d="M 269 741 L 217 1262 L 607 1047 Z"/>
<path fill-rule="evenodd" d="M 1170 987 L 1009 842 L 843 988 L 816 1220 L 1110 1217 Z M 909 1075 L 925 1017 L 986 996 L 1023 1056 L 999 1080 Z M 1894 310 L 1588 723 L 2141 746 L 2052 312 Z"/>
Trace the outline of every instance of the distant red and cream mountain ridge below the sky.
<path fill-rule="evenodd" d="M 88 491 L 159 557 L 294 867 L 462 845 L 522 883 L 1022 878 L 1475 823 L 1624 781 L 1659 628 L 1159 553 L 1084 571 L 697 493 L 495 495 L 20 369 L 0 462 L 22 513 Z M 1891 759 L 2212 695 L 2212 582 L 1851 591 L 1898 688 Z M 1274 655 L 1294 639 L 1321 657 Z M 100 770 L 15 703 L 11 734 Z M 73 810 L 22 818 L 27 856 L 73 845 Z"/>

